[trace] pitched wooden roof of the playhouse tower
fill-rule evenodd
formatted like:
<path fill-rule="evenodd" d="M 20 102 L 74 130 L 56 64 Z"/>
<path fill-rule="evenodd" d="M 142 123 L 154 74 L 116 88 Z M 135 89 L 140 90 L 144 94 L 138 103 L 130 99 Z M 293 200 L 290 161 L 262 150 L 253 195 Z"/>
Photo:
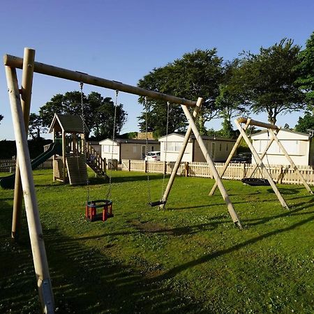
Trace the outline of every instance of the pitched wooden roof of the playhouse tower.
<path fill-rule="evenodd" d="M 52 130 L 57 132 L 65 133 L 87 133 L 89 128 L 83 121 L 81 116 L 75 116 L 73 114 L 54 114 L 54 119 L 50 124 L 49 133 L 52 133 Z"/>

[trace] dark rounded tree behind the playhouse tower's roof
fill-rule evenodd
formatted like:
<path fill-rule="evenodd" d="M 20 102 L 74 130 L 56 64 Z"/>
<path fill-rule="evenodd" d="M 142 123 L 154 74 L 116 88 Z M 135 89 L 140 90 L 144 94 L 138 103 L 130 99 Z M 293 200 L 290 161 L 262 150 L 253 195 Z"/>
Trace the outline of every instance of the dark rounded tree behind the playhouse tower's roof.
<path fill-rule="evenodd" d="M 66 94 L 57 94 L 52 97 L 43 107 L 40 107 L 39 115 L 42 119 L 42 126 L 50 126 L 54 114 L 75 114 L 84 115 L 87 127 L 94 133 L 95 140 L 103 140 L 105 137 L 112 137 L 114 121 L 114 103 L 112 99 L 103 98 L 99 93 L 91 91 L 88 96 L 80 91 L 68 91 Z M 126 123 L 126 112 L 123 105 L 117 105 L 117 118 L 115 135 L 118 135 Z"/>

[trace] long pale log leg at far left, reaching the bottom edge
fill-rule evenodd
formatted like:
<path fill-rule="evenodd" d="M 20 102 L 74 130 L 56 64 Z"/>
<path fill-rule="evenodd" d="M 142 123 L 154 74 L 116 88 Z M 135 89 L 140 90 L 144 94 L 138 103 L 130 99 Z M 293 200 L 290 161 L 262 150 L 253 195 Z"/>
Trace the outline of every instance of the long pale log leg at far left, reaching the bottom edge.
<path fill-rule="evenodd" d="M 27 146 L 27 133 L 23 119 L 22 105 L 17 85 L 17 74 L 15 68 L 6 66 L 6 80 L 8 83 L 8 94 L 13 117 L 13 128 L 17 154 L 20 160 L 20 174 L 24 195 L 27 223 L 29 225 L 29 237 L 31 240 L 31 251 L 33 253 L 33 265 L 35 268 L 38 292 L 43 313 L 54 313 L 54 297 L 43 240 L 35 186 L 33 184 L 33 172 L 31 170 L 31 158 Z"/>

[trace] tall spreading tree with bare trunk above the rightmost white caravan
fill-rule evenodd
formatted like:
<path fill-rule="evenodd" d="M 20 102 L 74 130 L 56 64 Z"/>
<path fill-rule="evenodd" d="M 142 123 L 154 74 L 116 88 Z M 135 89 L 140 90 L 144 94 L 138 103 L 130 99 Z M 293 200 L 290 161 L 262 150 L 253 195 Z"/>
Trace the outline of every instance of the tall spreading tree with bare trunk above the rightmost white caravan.
<path fill-rule="evenodd" d="M 259 54 L 244 52 L 241 65 L 234 71 L 232 89 L 255 113 L 267 112 L 268 121 L 276 124 L 280 113 L 301 110 L 304 96 L 294 84 L 299 75 L 300 47 L 284 38 Z"/>

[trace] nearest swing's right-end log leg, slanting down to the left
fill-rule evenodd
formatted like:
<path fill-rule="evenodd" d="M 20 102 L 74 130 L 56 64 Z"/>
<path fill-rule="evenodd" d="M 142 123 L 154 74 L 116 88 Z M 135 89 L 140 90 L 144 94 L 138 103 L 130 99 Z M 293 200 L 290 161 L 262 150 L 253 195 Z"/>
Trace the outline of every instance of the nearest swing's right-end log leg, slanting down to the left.
<path fill-rule="evenodd" d="M 197 99 L 197 103 L 196 103 L 196 106 L 195 106 L 194 111 L 193 111 L 193 118 L 194 119 L 197 117 L 197 114 L 198 114 L 198 112 L 200 110 L 200 106 L 202 105 L 202 102 L 203 102 L 203 98 L 198 98 Z M 179 165 L 181 163 L 182 157 L 184 156 L 184 151 L 186 151 L 186 146 L 188 145 L 188 140 L 190 140 L 190 133 L 191 132 L 192 132 L 191 126 L 188 126 L 188 130 L 186 130 L 186 135 L 184 136 L 184 140 L 182 142 L 181 149 L 180 149 L 179 154 L 177 156 L 177 160 L 174 163 L 172 172 L 170 174 L 170 179 L 168 181 L 167 187 L 165 188 L 165 193 L 163 193 L 162 200 L 163 200 L 164 204 L 161 204 L 159 206 L 160 209 L 163 209 L 165 207 L 165 204 L 167 203 L 167 199 L 168 199 L 168 196 L 170 194 L 170 190 L 172 188 L 172 185 L 174 183 L 174 179 L 175 179 L 175 177 L 177 175 L 177 171 L 179 169 Z M 166 147 L 166 149 L 167 149 L 167 147 Z"/>

